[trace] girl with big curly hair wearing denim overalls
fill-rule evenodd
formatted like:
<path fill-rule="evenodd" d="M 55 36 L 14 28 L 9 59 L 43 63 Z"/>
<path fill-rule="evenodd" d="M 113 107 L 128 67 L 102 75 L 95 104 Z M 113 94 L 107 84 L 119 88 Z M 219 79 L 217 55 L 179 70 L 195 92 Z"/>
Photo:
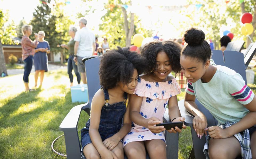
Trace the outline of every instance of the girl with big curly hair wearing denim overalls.
<path fill-rule="evenodd" d="M 82 156 L 123 158 L 121 139 L 130 131 L 129 94 L 134 93 L 145 59 L 129 48 L 112 50 L 102 57 L 99 89 L 91 103 L 91 117 L 81 130 Z M 122 125 L 123 119 L 123 125 Z"/>

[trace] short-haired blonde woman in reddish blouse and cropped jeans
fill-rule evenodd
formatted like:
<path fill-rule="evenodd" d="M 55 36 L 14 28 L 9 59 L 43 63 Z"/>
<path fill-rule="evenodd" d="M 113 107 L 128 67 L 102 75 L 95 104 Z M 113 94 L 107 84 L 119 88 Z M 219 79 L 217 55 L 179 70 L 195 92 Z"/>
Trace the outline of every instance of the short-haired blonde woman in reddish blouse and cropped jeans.
<path fill-rule="evenodd" d="M 38 45 L 38 34 L 35 34 L 35 41 L 33 42 L 29 39 L 29 36 L 32 34 L 32 26 L 31 25 L 23 25 L 22 28 L 22 60 L 24 61 L 24 74 L 23 81 L 25 85 L 26 91 L 33 91 L 33 89 L 29 88 L 29 74 L 31 72 L 33 66 L 33 55 L 35 54 L 35 49 Z"/>

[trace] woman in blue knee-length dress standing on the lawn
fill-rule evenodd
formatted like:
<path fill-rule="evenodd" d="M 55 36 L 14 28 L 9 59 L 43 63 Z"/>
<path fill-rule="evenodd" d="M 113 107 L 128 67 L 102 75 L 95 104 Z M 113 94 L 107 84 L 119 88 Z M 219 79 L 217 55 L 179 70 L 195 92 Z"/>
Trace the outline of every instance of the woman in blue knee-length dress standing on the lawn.
<path fill-rule="evenodd" d="M 35 88 L 37 88 L 37 80 L 40 73 L 40 85 L 43 83 L 44 73 L 48 71 L 48 57 L 47 53 L 50 53 L 50 45 L 48 41 L 44 40 L 45 32 L 39 31 L 39 44 L 35 48 L 34 64 L 35 64 Z"/>

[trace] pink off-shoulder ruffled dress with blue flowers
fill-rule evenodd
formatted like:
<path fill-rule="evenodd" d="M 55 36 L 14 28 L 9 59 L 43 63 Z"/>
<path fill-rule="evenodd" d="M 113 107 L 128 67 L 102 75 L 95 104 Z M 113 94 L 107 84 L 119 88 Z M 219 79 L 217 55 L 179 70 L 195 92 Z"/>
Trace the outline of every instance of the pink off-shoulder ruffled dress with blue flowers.
<path fill-rule="evenodd" d="M 148 82 L 139 77 L 134 91 L 134 94 L 143 97 L 139 114 L 146 119 L 154 116 L 163 122 L 169 98 L 179 93 L 181 89 L 175 78 L 166 82 Z M 123 146 L 133 141 L 153 139 L 161 139 L 165 142 L 165 135 L 163 132 L 152 133 L 148 128 L 132 122 L 130 132 L 123 138 Z"/>

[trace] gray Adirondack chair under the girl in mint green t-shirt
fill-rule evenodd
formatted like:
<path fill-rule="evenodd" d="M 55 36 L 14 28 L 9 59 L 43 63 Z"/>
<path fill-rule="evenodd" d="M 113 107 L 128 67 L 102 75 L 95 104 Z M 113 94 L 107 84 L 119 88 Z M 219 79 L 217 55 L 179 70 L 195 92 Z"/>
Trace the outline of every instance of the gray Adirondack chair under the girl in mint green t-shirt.
<path fill-rule="evenodd" d="M 214 60 L 216 65 L 226 66 L 230 69 L 235 70 L 243 77 L 243 80 L 246 81 L 246 74 L 243 64 L 243 53 L 236 51 L 224 51 L 222 54 L 222 51 L 220 50 L 213 50 L 212 59 Z M 225 62 L 223 59 L 225 59 Z M 203 105 L 197 99 L 195 99 L 195 103 L 197 104 L 198 109 L 202 111 L 203 114 L 205 114 L 208 126 L 214 126 L 218 124 L 218 121 L 213 117 L 213 115 L 205 107 L 203 107 Z M 184 99 L 179 101 L 178 105 L 180 110 L 184 110 Z M 193 149 L 191 150 L 191 153 L 194 153 L 191 154 L 191 156 L 194 155 L 196 159 L 205 159 L 206 156 L 203 153 L 203 147 L 206 143 L 206 136 L 202 137 L 202 139 L 199 139 L 197 137 L 197 133 L 193 129 L 192 120 L 194 117 L 186 110 L 185 112 L 183 112 L 183 114 L 186 114 L 186 119 L 184 122 L 185 125 L 191 127 L 191 135 L 193 140 Z"/>

